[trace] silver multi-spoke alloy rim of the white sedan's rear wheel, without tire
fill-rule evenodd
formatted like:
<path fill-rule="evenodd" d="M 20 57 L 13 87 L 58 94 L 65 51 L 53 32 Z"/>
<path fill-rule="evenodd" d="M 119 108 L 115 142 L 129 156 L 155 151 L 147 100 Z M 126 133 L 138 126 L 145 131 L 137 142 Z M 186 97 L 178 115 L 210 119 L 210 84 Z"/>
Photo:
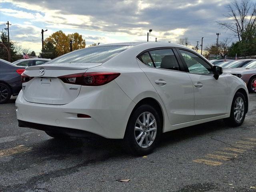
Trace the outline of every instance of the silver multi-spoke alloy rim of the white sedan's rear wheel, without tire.
<path fill-rule="evenodd" d="M 156 138 L 157 124 L 156 118 L 150 112 L 144 112 L 138 117 L 134 136 L 137 144 L 142 148 L 148 148 Z"/>

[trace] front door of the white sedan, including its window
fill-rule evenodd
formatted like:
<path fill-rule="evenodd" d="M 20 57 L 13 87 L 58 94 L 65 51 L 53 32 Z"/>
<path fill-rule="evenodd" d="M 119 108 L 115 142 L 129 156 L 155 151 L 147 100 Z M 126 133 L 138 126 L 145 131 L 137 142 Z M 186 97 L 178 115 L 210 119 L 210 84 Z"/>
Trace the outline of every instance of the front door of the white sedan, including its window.
<path fill-rule="evenodd" d="M 216 80 L 212 66 L 201 56 L 179 49 L 180 57 L 193 82 L 195 119 L 200 120 L 227 113 L 228 89 L 224 76 Z"/>

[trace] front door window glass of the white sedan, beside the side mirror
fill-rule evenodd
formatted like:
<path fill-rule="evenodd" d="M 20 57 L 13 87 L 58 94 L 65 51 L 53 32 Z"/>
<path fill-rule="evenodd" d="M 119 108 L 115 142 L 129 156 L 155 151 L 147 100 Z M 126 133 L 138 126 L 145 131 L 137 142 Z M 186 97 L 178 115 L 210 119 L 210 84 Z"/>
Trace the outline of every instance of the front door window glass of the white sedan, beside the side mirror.
<path fill-rule="evenodd" d="M 196 54 L 185 50 L 180 50 L 180 53 L 182 54 L 190 73 L 212 74 L 211 66 Z"/>

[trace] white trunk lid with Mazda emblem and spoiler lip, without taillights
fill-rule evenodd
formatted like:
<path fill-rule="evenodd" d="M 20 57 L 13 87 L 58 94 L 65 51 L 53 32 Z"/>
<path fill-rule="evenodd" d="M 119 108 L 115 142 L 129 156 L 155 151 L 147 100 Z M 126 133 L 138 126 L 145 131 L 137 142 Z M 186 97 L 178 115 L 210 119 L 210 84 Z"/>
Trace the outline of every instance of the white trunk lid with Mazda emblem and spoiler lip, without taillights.
<path fill-rule="evenodd" d="M 28 102 L 63 105 L 77 98 L 81 85 L 67 84 L 59 76 L 84 73 L 99 63 L 63 63 L 27 67 L 24 74 L 34 77 L 22 84 Z"/>

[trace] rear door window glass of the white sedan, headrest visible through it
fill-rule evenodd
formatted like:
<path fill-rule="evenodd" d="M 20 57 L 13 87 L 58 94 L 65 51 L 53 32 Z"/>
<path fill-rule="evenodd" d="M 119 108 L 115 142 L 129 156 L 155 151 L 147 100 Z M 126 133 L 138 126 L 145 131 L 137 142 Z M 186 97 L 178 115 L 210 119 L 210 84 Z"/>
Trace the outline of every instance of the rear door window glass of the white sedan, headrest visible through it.
<path fill-rule="evenodd" d="M 149 52 L 156 68 L 179 70 L 178 61 L 172 49 L 160 49 Z"/>

